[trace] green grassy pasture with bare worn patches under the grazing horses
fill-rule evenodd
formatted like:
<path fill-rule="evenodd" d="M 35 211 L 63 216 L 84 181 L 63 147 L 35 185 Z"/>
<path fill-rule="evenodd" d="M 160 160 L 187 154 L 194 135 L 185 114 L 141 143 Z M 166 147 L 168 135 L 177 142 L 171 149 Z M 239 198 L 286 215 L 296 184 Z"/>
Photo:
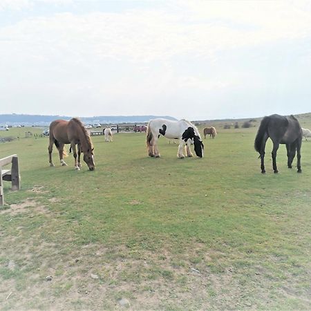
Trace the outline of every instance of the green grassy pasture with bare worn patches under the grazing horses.
<path fill-rule="evenodd" d="M 96 170 L 75 171 L 24 131 L 0 133 L 20 136 L 0 158 L 18 154 L 22 187 L 6 183 L 0 211 L 1 310 L 310 309 L 311 142 L 301 174 L 285 146 L 274 174 L 268 143 L 263 175 L 256 127 L 218 128 L 205 158 L 183 160 L 119 133 L 93 137 Z"/>

